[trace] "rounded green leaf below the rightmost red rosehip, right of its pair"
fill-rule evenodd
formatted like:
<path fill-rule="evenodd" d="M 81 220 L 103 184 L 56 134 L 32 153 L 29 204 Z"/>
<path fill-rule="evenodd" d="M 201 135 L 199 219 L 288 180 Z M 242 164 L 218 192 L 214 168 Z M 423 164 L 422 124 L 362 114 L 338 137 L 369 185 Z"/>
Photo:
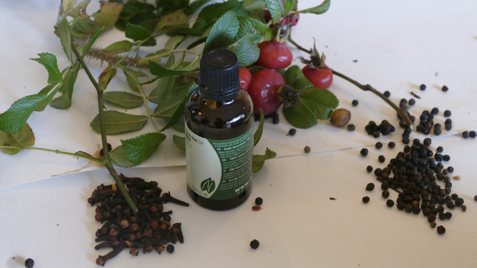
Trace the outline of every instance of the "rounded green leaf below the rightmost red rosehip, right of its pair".
<path fill-rule="evenodd" d="M 300 93 L 301 104 L 310 110 L 320 120 L 330 118 L 334 108 L 338 107 L 338 98 L 329 90 L 311 88 Z"/>

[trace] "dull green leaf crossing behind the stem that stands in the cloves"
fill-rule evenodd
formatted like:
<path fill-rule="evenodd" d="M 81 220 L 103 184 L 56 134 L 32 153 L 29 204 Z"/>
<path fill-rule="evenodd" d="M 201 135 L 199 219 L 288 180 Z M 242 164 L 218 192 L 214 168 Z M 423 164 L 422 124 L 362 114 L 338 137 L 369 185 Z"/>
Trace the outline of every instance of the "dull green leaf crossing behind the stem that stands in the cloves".
<path fill-rule="evenodd" d="M 111 110 L 104 112 L 104 124 L 106 126 L 106 134 L 108 135 L 140 130 L 146 122 L 147 116 L 145 115 L 133 115 Z M 94 117 L 90 126 L 95 132 L 101 134 L 99 115 Z"/>

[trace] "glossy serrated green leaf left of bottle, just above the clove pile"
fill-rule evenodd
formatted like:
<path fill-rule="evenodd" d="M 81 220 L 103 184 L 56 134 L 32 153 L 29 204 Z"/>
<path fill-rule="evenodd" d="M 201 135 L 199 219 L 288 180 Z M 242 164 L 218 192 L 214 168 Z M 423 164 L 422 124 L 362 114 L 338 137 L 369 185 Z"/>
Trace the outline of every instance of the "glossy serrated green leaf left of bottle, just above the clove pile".
<path fill-rule="evenodd" d="M 165 139 L 166 135 L 151 132 L 131 139 L 121 140 L 121 144 L 126 159 L 134 164 L 141 164 L 156 152 L 159 144 Z"/>

